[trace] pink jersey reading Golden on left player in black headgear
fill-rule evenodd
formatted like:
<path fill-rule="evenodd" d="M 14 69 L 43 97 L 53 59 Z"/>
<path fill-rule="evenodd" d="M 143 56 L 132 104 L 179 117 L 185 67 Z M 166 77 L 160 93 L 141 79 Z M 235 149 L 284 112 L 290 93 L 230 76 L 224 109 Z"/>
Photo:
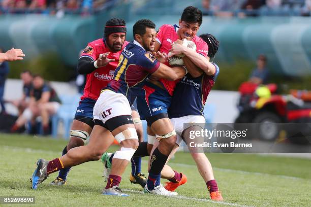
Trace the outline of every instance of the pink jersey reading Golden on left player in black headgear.
<path fill-rule="evenodd" d="M 125 41 L 122 49 L 127 46 L 129 42 Z M 115 68 L 119 62 L 119 56 L 122 52 L 112 53 L 108 47 L 106 47 L 103 39 L 98 39 L 87 44 L 81 57 L 89 57 L 92 60 L 97 60 L 99 55 L 102 53 L 110 52 L 108 58 L 115 59 L 113 62 L 109 62 L 106 66 L 99 67 L 95 71 L 86 76 L 86 84 L 84 88 L 84 93 L 81 99 L 91 98 L 97 100 L 101 90 L 108 85 L 112 80 Z"/>

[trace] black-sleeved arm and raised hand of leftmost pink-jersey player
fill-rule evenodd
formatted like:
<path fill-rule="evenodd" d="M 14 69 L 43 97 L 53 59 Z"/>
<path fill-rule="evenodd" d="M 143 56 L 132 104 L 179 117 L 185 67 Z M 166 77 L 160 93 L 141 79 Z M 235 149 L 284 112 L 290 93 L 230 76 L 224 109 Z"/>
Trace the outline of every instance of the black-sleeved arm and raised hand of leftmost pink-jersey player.
<path fill-rule="evenodd" d="M 98 59 L 94 61 L 91 57 L 82 56 L 78 61 L 77 71 L 79 74 L 90 74 L 99 67 L 106 66 L 115 59 L 108 58 L 109 52 L 100 54 Z"/>

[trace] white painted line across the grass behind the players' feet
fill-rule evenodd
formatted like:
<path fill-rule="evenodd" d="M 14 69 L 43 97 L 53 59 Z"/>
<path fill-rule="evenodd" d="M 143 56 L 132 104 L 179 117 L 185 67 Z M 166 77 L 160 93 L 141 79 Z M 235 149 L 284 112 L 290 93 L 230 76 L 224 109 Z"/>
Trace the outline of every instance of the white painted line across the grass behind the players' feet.
<path fill-rule="evenodd" d="M 23 151 L 23 152 L 27 152 L 27 153 L 57 154 L 54 151 L 34 150 L 32 148 L 11 147 L 11 146 L 1 146 L 1 147 L 3 147 L 6 150 Z M 142 162 L 143 163 L 148 163 L 148 161 L 145 161 L 145 160 L 142 160 Z M 169 165 L 175 165 L 175 166 L 180 166 L 180 167 L 195 167 L 195 168 L 197 168 L 197 165 L 194 165 L 194 164 L 183 164 L 183 163 L 169 162 Z M 298 177 L 292 177 L 292 176 L 282 176 L 282 175 L 273 175 L 273 174 L 268 174 L 268 173 L 264 173 L 264 172 L 250 172 L 250 171 L 244 171 L 244 170 L 227 169 L 227 168 L 219 168 L 219 167 L 213 167 L 213 169 L 216 169 L 216 170 L 219 170 L 219 171 L 225 171 L 225 172 L 237 172 L 237 173 L 240 173 L 240 174 L 248 174 L 248 175 L 274 176 L 274 177 L 285 178 L 285 179 L 305 180 L 304 178 L 298 178 Z"/>

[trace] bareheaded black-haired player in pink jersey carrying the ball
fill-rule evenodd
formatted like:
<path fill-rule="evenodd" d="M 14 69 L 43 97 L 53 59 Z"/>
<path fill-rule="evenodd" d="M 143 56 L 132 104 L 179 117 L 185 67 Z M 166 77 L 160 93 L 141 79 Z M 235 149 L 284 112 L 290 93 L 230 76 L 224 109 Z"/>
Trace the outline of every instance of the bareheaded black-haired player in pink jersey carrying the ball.
<path fill-rule="evenodd" d="M 184 57 L 183 60 L 188 71 L 199 70 L 202 62 L 206 61 L 208 52 L 207 44 L 196 36 L 201 24 L 202 12 L 192 6 L 185 8 L 179 20 L 179 26 L 166 24 L 160 27 L 154 51 L 160 51 L 160 54 L 168 54 L 174 42 L 182 44 L 181 40 L 183 39 L 191 40 L 196 44 L 196 52 L 200 55 L 195 55 L 191 60 Z M 168 65 L 167 62 L 166 64 Z M 157 194 L 157 188 L 161 186 L 161 170 L 175 145 L 176 132 L 168 118 L 167 111 L 177 82 L 165 79 L 150 80 L 143 86 L 143 93 L 137 97 L 138 112 L 141 119 L 145 119 L 148 125 L 148 144 L 146 151 L 146 143 L 140 143 L 135 157 L 151 154 L 149 176 L 144 188 L 145 193 Z M 152 152 L 151 149 L 156 139 L 161 139 L 161 142 L 159 146 L 154 146 Z M 111 158 L 109 159 L 109 157 L 110 154 L 103 155 L 104 162 L 110 162 Z M 177 180 L 179 178 L 182 179 L 182 183 L 186 182 L 186 177 L 182 174 L 179 174 Z"/>

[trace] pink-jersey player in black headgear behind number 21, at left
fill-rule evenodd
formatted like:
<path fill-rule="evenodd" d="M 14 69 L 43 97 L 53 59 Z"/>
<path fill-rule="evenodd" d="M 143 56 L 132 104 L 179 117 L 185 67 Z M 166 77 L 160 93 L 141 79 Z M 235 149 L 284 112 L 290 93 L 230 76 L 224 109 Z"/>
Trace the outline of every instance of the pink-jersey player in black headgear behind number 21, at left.
<path fill-rule="evenodd" d="M 77 108 L 75 118 L 70 131 L 70 141 L 63 150 L 63 155 L 68 150 L 83 146 L 94 127 L 93 108 L 100 95 L 102 88 L 106 87 L 112 80 L 115 68 L 117 67 L 122 49 L 129 44 L 126 39 L 126 23 L 122 19 L 111 19 L 105 26 L 104 38 L 92 41 L 87 44 L 78 61 L 77 70 L 79 74 L 86 74 L 86 85 L 81 101 Z M 141 134 L 142 125 L 138 113 L 132 109 L 133 119 L 136 120 L 135 127 L 138 134 Z M 138 121 L 137 121 L 138 120 Z M 139 159 L 132 159 L 135 169 L 140 169 Z M 134 163 L 133 163 L 134 162 Z M 139 163 L 135 163 L 139 162 Z M 138 166 L 138 167 L 137 167 Z M 51 185 L 64 185 L 69 168 L 61 169 L 57 178 Z M 137 170 L 136 170 L 137 171 Z M 146 179 L 140 176 L 139 172 L 134 172 L 135 183 L 145 185 Z"/>

